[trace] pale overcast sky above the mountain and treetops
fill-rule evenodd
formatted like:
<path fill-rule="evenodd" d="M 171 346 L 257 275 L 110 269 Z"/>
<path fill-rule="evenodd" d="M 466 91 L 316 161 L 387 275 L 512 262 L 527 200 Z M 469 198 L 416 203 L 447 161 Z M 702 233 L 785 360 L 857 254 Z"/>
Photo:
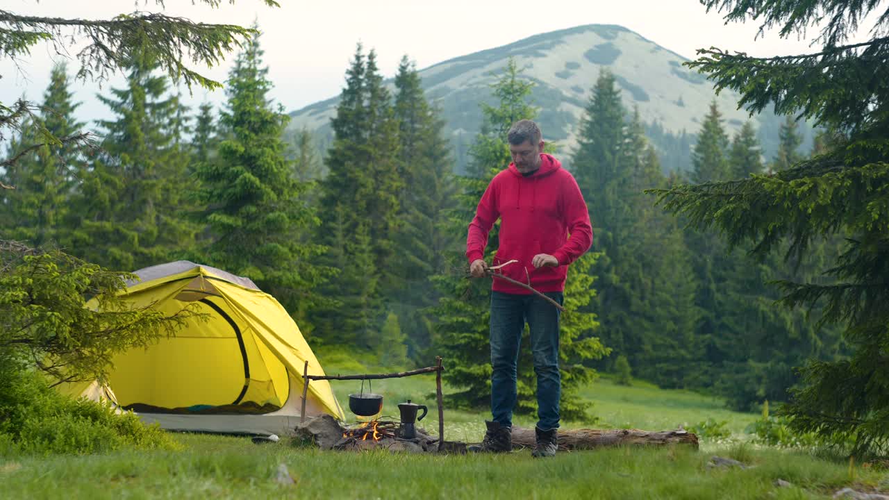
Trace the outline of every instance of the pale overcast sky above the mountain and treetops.
<path fill-rule="evenodd" d="M 300 109 L 340 93 L 348 61 L 357 42 L 377 51 L 380 70 L 394 76 L 406 53 L 423 69 L 471 52 L 509 44 L 539 33 L 585 24 L 617 24 L 656 44 L 693 59 L 695 50 L 716 45 L 722 49 L 770 56 L 811 52 L 808 40 L 781 39 L 776 32 L 755 40 L 758 24 L 725 25 L 722 15 L 706 13 L 698 0 L 278 0 L 280 8 L 260 0 L 222 0 L 217 9 L 191 5 L 190 0 L 166 0 L 165 12 L 204 22 L 249 25 L 258 20 L 268 77 L 275 85 L 271 96 L 288 111 Z M 4 0 L 4 10 L 63 18 L 108 18 L 135 10 L 162 10 L 154 0 Z M 866 27 L 871 23 L 865 23 Z M 815 35 L 815 31 L 810 32 Z M 866 39 L 862 29 L 856 40 Z M 49 46 L 38 45 L 21 69 L 0 60 L 0 101 L 9 103 L 26 94 L 40 100 L 53 60 Z M 224 80 L 230 61 L 204 75 Z M 71 70 L 76 62 L 71 63 Z M 108 85 L 108 84 L 105 84 Z M 120 85 L 120 78 L 110 85 Z M 84 120 L 105 117 L 92 83 L 73 85 L 84 104 Z M 195 89 L 192 103 L 204 99 L 220 103 L 223 91 Z"/>

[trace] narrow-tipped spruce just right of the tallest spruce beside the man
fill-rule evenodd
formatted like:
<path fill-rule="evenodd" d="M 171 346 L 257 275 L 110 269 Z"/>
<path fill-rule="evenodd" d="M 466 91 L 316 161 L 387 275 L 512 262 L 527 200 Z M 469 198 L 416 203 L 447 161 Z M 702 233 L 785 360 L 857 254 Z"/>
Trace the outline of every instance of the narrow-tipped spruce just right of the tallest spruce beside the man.
<path fill-rule="evenodd" d="M 655 210 L 644 190 L 665 186 L 661 163 L 645 138 L 634 109 L 629 123 L 626 155 L 631 180 L 630 224 L 618 240 L 621 262 L 614 271 L 624 286 L 629 310 L 617 312 L 622 328 L 634 338 L 627 355 L 637 375 L 665 387 L 693 385 L 701 378 L 701 343 L 694 336 L 698 309 L 694 304 L 696 281 L 693 260 L 677 223 Z M 652 248 L 658 248 L 652 252 Z M 607 250 L 606 250 L 607 252 Z M 600 310 L 600 314 L 613 314 Z M 635 325 L 634 325 L 635 323 Z M 615 367 L 616 368 L 616 367 Z"/>

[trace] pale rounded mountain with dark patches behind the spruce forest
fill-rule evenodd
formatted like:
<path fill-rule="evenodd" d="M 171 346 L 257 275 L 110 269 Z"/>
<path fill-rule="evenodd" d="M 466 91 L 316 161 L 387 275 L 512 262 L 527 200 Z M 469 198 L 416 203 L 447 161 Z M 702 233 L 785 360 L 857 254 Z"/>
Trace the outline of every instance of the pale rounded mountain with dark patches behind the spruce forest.
<path fill-rule="evenodd" d="M 481 123 L 479 103 L 493 101 L 490 85 L 510 57 L 522 69 L 523 77 L 536 84 L 533 101 L 541 108 L 538 123 L 544 139 L 559 145 L 563 161 L 576 145 L 589 90 L 604 68 L 613 72 L 627 108 L 638 107 L 665 170 L 686 170 L 691 165 L 694 134 L 714 98 L 730 135 L 748 119 L 747 111 L 737 109 L 737 93 L 723 91 L 717 96 L 705 77 L 682 65 L 687 59 L 676 52 L 620 26 L 579 26 L 420 70 L 427 96 L 442 109 L 458 171 L 467 161 L 466 151 Z M 337 101 L 339 97 L 292 112 L 290 127 L 307 127 L 315 134 L 316 144 L 326 150 L 332 140 L 330 120 Z M 764 112 L 753 119 L 765 158 L 771 160 L 784 118 Z M 812 127 L 800 124 L 799 130 L 804 133 L 804 148 L 811 147 Z"/>

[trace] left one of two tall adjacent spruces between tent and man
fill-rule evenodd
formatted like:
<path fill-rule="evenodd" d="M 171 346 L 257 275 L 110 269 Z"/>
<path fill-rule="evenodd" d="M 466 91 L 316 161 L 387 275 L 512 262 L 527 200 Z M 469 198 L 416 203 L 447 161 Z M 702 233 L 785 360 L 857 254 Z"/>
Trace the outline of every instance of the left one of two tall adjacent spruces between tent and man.
<path fill-rule="evenodd" d="M 370 348 L 379 345 L 383 297 L 395 283 L 393 240 L 404 183 L 391 99 L 376 54 L 365 57 L 361 44 L 332 126 L 324 162 L 329 173 L 319 184 L 318 237 L 331 248 L 325 262 L 340 270 L 325 293 L 342 300 L 317 310 L 316 321 L 328 342 Z"/>

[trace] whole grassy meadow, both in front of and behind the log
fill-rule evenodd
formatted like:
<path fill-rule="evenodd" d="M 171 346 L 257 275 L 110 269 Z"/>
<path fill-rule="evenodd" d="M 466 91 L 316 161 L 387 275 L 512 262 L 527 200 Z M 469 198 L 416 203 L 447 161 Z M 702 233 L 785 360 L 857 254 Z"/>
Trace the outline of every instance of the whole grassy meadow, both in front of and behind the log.
<path fill-rule="evenodd" d="M 336 357 L 326 364 L 328 373 L 379 371 Z M 333 382 L 342 402 L 359 387 Z M 381 381 L 373 390 L 384 395 L 384 415 L 397 415 L 395 405 L 404 399 L 427 404 L 430 412 L 421 424 L 437 429 L 434 375 Z M 712 418 L 726 421 L 733 435 L 704 441 L 699 451 L 613 448 L 535 460 L 527 450 L 508 456 L 357 454 L 299 448 L 289 440 L 255 445 L 244 437 L 175 434 L 182 445 L 176 451 L 0 457 L 0 498 L 781 499 L 827 498 L 847 486 L 889 492 L 889 472 L 877 465 L 749 444 L 743 429 L 757 415 L 727 411 L 718 399 L 601 379 L 583 395 L 594 402 L 600 420 L 565 427 L 667 430 Z M 485 416 L 446 410 L 446 438 L 480 440 Z M 532 426 L 533 420 L 519 417 L 517 424 Z M 752 467 L 710 468 L 714 455 Z M 293 483 L 276 480 L 282 465 Z M 778 487 L 777 480 L 793 486 Z"/>

